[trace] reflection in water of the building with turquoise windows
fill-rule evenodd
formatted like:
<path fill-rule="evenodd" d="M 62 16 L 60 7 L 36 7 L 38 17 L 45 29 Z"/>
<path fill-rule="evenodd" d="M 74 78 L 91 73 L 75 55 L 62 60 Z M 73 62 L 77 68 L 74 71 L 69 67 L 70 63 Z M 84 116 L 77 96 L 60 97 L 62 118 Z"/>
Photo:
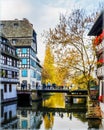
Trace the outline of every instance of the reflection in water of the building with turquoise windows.
<path fill-rule="evenodd" d="M 19 129 L 39 129 L 42 123 L 41 113 L 32 112 L 31 110 L 17 110 L 19 118 Z"/>

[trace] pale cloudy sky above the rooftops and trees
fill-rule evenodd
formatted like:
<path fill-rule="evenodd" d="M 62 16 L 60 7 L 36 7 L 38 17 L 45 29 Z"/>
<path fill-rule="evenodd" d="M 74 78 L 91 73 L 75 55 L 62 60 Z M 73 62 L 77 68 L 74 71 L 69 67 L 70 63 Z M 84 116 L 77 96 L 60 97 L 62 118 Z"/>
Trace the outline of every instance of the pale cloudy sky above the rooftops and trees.
<path fill-rule="evenodd" d="M 45 43 L 42 34 L 54 28 L 59 15 L 74 8 L 94 10 L 103 0 L 0 0 L 0 19 L 13 20 L 27 18 L 37 33 L 38 58 L 44 61 Z"/>

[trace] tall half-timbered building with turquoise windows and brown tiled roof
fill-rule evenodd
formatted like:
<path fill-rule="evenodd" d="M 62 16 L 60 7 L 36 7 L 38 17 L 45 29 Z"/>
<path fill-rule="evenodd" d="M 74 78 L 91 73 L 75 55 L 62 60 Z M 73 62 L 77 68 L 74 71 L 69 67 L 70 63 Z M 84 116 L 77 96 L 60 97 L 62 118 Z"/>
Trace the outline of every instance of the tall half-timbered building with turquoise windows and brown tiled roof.
<path fill-rule="evenodd" d="M 37 60 L 37 34 L 33 25 L 27 20 L 1 21 L 3 34 L 9 39 L 20 58 L 20 86 L 35 89 L 41 83 L 41 65 Z M 38 78 L 39 77 L 39 78 Z"/>

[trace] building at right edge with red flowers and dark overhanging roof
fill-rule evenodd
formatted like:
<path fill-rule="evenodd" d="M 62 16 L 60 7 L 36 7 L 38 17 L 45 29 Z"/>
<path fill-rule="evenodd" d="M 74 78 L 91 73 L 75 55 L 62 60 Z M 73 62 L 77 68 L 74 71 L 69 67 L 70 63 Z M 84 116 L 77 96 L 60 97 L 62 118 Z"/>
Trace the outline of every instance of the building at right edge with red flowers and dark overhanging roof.
<path fill-rule="evenodd" d="M 94 36 L 93 44 L 97 56 L 97 78 L 99 80 L 99 101 L 104 118 L 104 11 L 91 28 L 89 36 Z"/>

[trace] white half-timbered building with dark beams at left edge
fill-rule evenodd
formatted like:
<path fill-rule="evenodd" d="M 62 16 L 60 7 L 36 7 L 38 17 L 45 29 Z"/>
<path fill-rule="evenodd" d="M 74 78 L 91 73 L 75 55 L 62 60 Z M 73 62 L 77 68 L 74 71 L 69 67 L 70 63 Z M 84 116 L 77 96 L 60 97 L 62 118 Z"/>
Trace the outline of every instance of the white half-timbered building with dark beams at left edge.
<path fill-rule="evenodd" d="M 15 48 L 0 33 L 0 103 L 17 99 L 18 62 Z"/>

